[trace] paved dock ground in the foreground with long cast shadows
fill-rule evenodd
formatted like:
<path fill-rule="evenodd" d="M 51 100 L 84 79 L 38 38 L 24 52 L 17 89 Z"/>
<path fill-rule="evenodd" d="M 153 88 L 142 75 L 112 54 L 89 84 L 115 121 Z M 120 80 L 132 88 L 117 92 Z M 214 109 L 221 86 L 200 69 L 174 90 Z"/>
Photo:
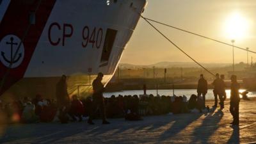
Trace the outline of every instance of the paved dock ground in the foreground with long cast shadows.
<path fill-rule="evenodd" d="M 228 101 L 228 100 L 227 100 Z M 212 101 L 207 104 L 212 106 Z M 240 125 L 230 127 L 232 116 L 222 111 L 182 115 L 147 116 L 143 121 L 110 119 L 110 125 L 70 124 L 10 125 L 0 143 L 249 143 L 256 141 L 256 100 L 240 104 Z"/>

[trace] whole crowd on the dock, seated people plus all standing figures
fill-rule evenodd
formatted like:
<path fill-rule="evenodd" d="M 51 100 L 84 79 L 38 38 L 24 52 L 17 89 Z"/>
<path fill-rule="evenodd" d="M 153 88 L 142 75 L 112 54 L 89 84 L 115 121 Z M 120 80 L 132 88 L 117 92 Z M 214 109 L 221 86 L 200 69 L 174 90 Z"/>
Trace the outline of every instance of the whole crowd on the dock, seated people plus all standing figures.
<path fill-rule="evenodd" d="M 67 93 L 67 77 L 62 76 L 56 86 L 56 100 L 44 99 L 42 95 L 36 95 L 34 99 L 24 97 L 22 100 L 15 100 L 4 105 L 0 102 L 0 113 L 2 113 L 2 116 L 4 114 L 10 122 L 81 122 L 88 116 L 89 118 L 86 119 L 88 124 L 94 124 L 92 120 L 101 116 L 102 124 L 109 124 L 106 118 L 142 120 L 141 116 L 146 115 L 179 114 L 190 113 L 191 111 L 202 113 L 202 109 L 209 111 L 209 107 L 205 107 L 207 81 L 203 75 L 200 76 L 198 81 L 198 95 L 193 94 L 189 99 L 185 95 L 172 97 L 165 95 L 161 97 L 154 97 L 154 95 L 144 95 L 142 97 L 138 97 L 138 95 L 112 95 L 110 98 L 104 98 L 102 95 L 104 92 L 104 86 L 101 83 L 102 77 L 103 74 L 99 73 L 93 81 L 94 93 L 92 97 L 79 99 L 77 95 L 72 95 L 70 99 Z M 216 97 L 214 106 L 218 104 L 218 96 L 220 106 L 224 108 L 225 83 L 223 83 L 224 77 L 221 76 L 221 78 L 216 75 L 216 79 L 212 83 L 214 85 L 214 96 Z M 233 79 L 235 78 L 233 77 Z M 230 99 L 234 102 L 230 101 L 230 111 L 232 115 L 234 114 L 234 123 L 237 124 L 239 85 L 234 82 L 232 86 Z"/>

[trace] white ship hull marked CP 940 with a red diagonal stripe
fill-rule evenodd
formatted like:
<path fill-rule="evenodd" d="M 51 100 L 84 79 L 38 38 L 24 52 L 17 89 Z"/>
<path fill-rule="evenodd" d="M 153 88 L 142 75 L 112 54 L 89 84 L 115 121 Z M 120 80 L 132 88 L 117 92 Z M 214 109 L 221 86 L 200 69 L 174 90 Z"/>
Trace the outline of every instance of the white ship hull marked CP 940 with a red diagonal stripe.
<path fill-rule="evenodd" d="M 68 76 L 70 95 L 90 95 L 98 72 L 105 74 L 105 84 L 113 76 L 145 4 L 145 0 L 2 1 L 0 95 L 54 97 L 63 74 Z"/>

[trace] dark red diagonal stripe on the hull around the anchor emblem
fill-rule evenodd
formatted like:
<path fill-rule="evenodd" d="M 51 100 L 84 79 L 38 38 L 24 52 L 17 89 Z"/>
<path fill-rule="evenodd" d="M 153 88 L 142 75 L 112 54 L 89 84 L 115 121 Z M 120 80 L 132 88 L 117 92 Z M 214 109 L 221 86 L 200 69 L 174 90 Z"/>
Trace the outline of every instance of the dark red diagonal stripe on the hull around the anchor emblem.
<path fill-rule="evenodd" d="M 39 0 L 12 0 L 0 24 L 0 40 L 2 40 L 6 35 L 16 35 L 21 40 L 29 26 L 29 13 L 35 12 L 39 2 Z M 39 4 L 38 10 L 36 11 L 36 22 L 31 25 L 28 30 L 28 35 L 24 38 L 24 60 L 19 67 L 10 69 L 8 76 L 4 81 L 0 95 L 24 76 L 24 73 L 28 68 L 29 61 L 35 51 L 36 44 L 42 35 L 45 24 L 49 19 L 55 3 L 56 0 L 42 0 Z M 0 62 L 0 77 L 3 78 L 7 71 L 8 67 L 4 66 L 3 63 Z"/>

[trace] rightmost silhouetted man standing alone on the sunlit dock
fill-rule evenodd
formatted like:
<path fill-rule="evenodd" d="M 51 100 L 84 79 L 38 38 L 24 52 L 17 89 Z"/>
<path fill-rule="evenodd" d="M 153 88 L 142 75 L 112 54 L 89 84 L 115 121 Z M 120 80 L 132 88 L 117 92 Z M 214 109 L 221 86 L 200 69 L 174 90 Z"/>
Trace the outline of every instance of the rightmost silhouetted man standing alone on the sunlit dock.
<path fill-rule="evenodd" d="M 230 113 L 233 116 L 233 122 L 230 123 L 232 125 L 239 125 L 239 83 L 237 83 L 237 78 L 235 75 L 230 77 L 231 85 L 230 85 Z"/>

